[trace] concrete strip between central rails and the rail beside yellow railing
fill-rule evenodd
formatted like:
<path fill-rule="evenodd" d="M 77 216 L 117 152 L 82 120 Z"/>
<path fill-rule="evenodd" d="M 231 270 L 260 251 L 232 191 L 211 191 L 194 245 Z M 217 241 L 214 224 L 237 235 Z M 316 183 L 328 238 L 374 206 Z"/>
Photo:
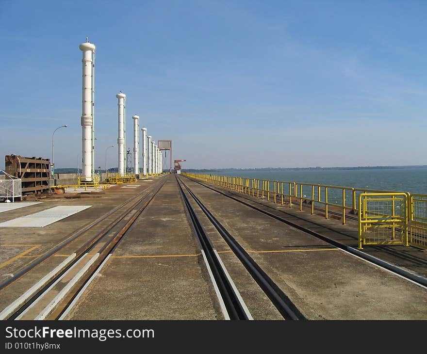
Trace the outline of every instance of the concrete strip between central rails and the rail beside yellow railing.
<path fill-rule="evenodd" d="M 427 319 L 425 288 L 195 182 L 185 179 L 185 183 L 308 319 Z M 340 222 L 317 217 L 319 229 L 320 223 L 332 226 Z M 321 232 L 326 234 L 324 229 Z M 332 237 L 333 230 L 327 231 Z M 346 239 L 344 233 L 335 234 L 340 241 Z M 219 251 L 227 252 L 224 241 L 214 237 L 212 241 Z M 229 253 L 220 255 L 231 257 Z M 224 263 L 232 276 L 239 273 L 227 258 Z M 242 289 L 239 278 L 234 281 L 254 318 L 271 319 L 264 309 L 258 312 L 256 293 Z"/>

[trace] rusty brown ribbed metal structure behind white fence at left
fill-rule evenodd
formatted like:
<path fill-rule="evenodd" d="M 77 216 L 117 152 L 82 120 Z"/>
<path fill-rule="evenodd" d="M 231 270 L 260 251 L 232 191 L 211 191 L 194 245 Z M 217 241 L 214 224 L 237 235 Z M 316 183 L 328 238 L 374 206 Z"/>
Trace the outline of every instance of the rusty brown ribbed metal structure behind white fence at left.
<path fill-rule="evenodd" d="M 6 155 L 5 172 L 22 181 L 22 195 L 51 193 L 49 159 Z"/>

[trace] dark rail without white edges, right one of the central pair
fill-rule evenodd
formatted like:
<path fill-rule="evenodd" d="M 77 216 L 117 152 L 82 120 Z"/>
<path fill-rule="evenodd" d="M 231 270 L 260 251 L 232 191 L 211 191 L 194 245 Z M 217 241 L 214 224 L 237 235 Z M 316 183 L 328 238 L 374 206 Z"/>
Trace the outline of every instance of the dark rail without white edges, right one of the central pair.
<path fill-rule="evenodd" d="M 177 177 L 178 178 L 178 177 Z M 227 242 L 236 257 L 242 262 L 246 270 L 257 282 L 260 288 L 268 296 L 271 302 L 276 306 L 280 314 L 286 320 L 306 320 L 306 317 L 299 311 L 296 305 L 289 297 L 277 286 L 277 284 L 261 269 L 261 267 L 253 260 L 252 257 L 243 249 L 243 247 L 230 235 L 227 229 L 216 220 L 213 214 L 201 203 L 197 196 L 188 188 L 181 180 L 181 183 L 186 188 L 188 193 L 196 201 L 197 205 L 202 209 L 211 223 L 218 230 L 222 238 Z"/>

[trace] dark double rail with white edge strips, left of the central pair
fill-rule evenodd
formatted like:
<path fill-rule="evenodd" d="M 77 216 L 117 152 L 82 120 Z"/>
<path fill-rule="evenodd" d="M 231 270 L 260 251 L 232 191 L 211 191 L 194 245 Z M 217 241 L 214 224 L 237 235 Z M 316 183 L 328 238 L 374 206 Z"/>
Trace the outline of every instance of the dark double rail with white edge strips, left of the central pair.
<path fill-rule="evenodd" d="M 201 250 L 204 251 L 205 256 L 208 260 L 209 267 L 212 271 L 216 285 L 218 286 L 218 289 L 220 291 L 222 300 L 224 301 L 224 305 L 227 309 L 227 313 L 230 317 L 230 320 L 248 320 L 248 317 L 240 302 L 240 299 L 235 293 L 227 275 L 224 272 L 223 267 L 220 264 L 220 261 L 218 260 L 215 254 L 211 240 L 209 239 L 203 225 L 197 217 L 196 211 L 191 206 L 190 201 L 185 195 L 181 184 L 178 181 L 178 177 L 176 178 L 181 197 L 184 201 L 184 205 L 190 217 L 191 227 L 193 229 L 194 234 L 196 235 Z"/>

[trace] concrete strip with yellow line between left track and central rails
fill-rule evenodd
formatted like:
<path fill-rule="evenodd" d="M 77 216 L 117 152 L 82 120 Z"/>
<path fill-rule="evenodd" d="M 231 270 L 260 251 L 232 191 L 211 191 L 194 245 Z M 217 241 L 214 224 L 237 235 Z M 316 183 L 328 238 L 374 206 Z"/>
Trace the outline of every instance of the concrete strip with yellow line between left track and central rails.
<path fill-rule="evenodd" d="M 222 319 L 176 182 L 162 187 L 66 319 Z"/>

